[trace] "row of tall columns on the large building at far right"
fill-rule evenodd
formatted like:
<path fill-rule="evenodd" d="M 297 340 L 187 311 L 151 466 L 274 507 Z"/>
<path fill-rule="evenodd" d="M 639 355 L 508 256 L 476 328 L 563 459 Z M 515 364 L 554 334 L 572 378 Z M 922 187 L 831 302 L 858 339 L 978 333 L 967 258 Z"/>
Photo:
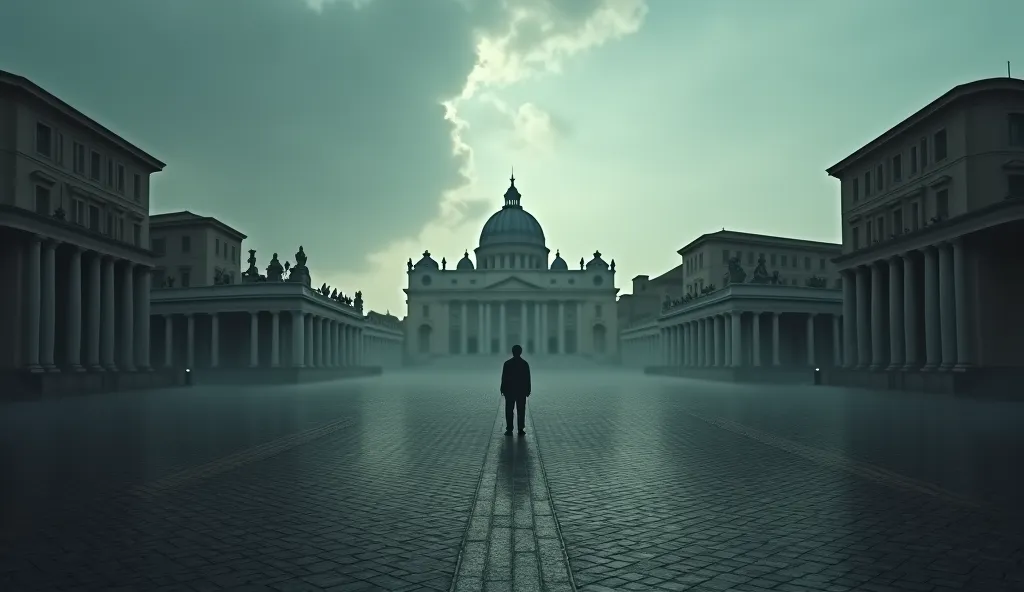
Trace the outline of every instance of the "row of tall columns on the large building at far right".
<path fill-rule="evenodd" d="M 846 368 L 947 371 L 974 364 L 961 240 L 845 269 Z"/>

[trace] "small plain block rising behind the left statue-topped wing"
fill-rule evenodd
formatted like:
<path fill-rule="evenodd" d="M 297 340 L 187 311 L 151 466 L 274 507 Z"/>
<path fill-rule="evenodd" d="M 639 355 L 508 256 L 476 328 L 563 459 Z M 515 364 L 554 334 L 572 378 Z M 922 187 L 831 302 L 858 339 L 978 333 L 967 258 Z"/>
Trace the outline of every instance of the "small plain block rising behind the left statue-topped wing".
<path fill-rule="evenodd" d="M 236 284 L 242 278 L 246 236 L 209 216 L 191 212 L 150 217 L 150 243 L 157 257 L 157 288 Z"/>

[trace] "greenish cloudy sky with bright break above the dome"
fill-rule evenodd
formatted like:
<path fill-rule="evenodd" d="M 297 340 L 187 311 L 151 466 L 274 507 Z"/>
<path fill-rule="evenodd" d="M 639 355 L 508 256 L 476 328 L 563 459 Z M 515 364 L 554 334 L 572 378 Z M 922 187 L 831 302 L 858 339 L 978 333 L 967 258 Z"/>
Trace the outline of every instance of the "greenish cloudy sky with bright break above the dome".
<path fill-rule="evenodd" d="M 552 257 L 617 285 L 703 232 L 839 240 L 824 169 L 1024 72 L 1019 0 L 4 0 L 0 69 L 168 164 L 153 213 L 302 244 L 404 315 L 406 261 L 476 247 L 515 166 Z M 245 262 L 243 262 L 245 267 Z"/>

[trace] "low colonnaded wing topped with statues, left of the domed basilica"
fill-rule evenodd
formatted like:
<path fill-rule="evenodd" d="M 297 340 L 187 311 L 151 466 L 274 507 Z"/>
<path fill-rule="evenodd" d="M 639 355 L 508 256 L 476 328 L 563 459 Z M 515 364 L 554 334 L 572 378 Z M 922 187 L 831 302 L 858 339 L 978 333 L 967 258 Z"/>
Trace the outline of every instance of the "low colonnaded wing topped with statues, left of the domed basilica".
<path fill-rule="evenodd" d="M 205 220 L 188 227 L 243 236 L 215 219 Z M 198 241 L 189 256 L 208 261 L 206 251 L 217 245 Z M 403 335 L 397 320 L 375 312 L 364 316 L 359 292 L 351 298 L 326 284 L 311 288 L 306 261 L 302 247 L 295 265 L 282 265 L 274 253 L 264 276 L 256 267 L 256 252 L 249 251 L 249 268 L 240 283 L 175 287 L 165 282 L 155 288 L 151 335 L 159 364 L 187 369 L 197 383 L 306 382 L 399 366 Z"/>

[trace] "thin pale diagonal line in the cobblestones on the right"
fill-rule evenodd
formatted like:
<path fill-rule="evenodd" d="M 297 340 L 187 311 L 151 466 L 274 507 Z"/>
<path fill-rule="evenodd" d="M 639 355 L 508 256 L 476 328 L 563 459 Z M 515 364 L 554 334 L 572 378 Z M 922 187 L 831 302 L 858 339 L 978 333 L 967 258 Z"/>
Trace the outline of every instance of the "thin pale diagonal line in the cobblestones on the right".
<path fill-rule="evenodd" d="M 691 417 L 699 419 L 700 421 L 713 426 L 749 437 L 763 445 L 795 454 L 817 464 L 845 470 L 849 473 L 853 473 L 857 476 L 876 481 L 889 488 L 904 492 L 923 494 L 944 502 L 967 506 L 977 510 L 989 509 L 987 504 L 977 500 L 959 494 L 954 494 L 953 492 L 940 488 L 934 483 L 901 475 L 870 463 L 854 460 L 839 451 L 829 451 L 802 445 L 800 442 L 779 437 L 731 420 L 703 417 L 692 412 L 687 413 Z"/>

